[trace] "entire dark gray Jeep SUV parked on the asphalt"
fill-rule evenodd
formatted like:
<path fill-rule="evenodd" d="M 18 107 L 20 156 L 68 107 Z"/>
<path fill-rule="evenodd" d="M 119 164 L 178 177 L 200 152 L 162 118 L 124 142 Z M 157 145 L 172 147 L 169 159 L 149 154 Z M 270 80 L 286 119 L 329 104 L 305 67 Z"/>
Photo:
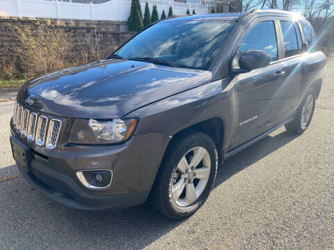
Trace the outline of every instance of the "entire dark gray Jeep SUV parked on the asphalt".
<path fill-rule="evenodd" d="M 173 219 L 202 206 L 223 160 L 312 119 L 326 56 L 290 12 L 191 15 L 148 26 L 105 60 L 17 94 L 10 142 L 22 175 L 72 208 L 150 200 Z"/>

